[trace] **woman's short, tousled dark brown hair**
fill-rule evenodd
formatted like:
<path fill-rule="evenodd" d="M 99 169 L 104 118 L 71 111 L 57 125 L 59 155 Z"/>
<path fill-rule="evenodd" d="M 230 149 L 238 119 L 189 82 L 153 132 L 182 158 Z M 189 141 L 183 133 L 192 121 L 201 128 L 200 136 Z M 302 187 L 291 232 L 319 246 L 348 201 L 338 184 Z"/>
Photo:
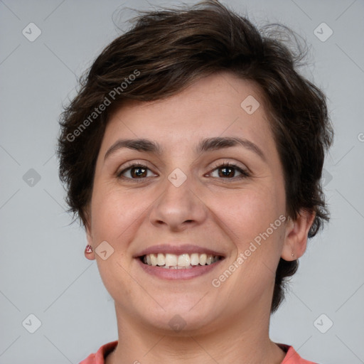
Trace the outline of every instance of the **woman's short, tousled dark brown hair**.
<path fill-rule="evenodd" d="M 60 117 L 59 174 L 67 187 L 69 211 L 87 226 L 97 155 L 117 107 L 127 100 L 175 95 L 201 77 L 225 70 L 253 80 L 262 90 L 284 168 L 288 215 L 295 219 L 300 209 L 314 212 L 309 237 L 316 235 L 328 220 L 321 172 L 333 129 L 323 92 L 296 71 L 302 49 L 294 53 L 280 39 L 282 29 L 294 38 L 295 33 L 280 29 L 258 31 L 247 18 L 213 0 L 139 16 L 80 77 L 80 90 Z M 100 112 L 100 105 L 107 107 Z M 297 260 L 280 259 L 272 313 L 284 299 L 285 279 L 298 265 Z"/>

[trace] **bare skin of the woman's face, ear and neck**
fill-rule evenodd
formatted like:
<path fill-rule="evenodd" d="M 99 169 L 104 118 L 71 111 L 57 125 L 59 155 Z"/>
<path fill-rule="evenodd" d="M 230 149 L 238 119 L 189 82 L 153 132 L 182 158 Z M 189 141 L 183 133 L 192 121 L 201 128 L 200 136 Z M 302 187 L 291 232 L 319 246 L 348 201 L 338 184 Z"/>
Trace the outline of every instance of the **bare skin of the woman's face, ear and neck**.
<path fill-rule="evenodd" d="M 240 107 L 248 95 L 260 103 L 253 114 Z M 115 303 L 119 343 L 107 364 L 282 363 L 284 351 L 269 338 L 274 274 L 280 257 L 304 254 L 314 215 L 287 218 L 220 287 L 211 284 L 259 233 L 287 216 L 282 164 L 263 105 L 253 82 L 216 73 L 168 99 L 129 102 L 109 120 L 88 209 L 94 252 L 86 255 L 97 260 Z M 240 145 L 194 151 L 200 139 L 237 136 L 255 143 L 265 160 Z M 123 148 L 104 159 L 122 138 L 158 141 L 163 153 Z M 226 161 L 250 176 L 237 178 L 237 169 L 224 176 L 218 167 Z M 127 162 L 149 168 L 142 181 L 138 170 L 117 177 Z M 168 180 L 175 168 L 187 176 L 179 187 Z M 114 249 L 105 260 L 95 254 L 103 241 Z M 146 274 L 133 255 L 168 242 L 209 247 L 225 259 L 193 279 Z M 175 315 L 186 323 L 181 331 L 168 324 Z"/>

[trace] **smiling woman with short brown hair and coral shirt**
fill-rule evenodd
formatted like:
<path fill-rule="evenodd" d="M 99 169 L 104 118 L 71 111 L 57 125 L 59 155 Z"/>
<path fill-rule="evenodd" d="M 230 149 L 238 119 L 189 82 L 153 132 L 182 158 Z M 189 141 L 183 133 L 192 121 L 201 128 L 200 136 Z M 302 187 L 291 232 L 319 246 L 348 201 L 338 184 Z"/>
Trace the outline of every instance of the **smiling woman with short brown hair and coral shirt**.
<path fill-rule="evenodd" d="M 60 178 L 119 333 L 82 364 L 312 363 L 269 317 L 328 220 L 333 131 L 274 34 L 217 1 L 144 14 L 63 112 Z"/>

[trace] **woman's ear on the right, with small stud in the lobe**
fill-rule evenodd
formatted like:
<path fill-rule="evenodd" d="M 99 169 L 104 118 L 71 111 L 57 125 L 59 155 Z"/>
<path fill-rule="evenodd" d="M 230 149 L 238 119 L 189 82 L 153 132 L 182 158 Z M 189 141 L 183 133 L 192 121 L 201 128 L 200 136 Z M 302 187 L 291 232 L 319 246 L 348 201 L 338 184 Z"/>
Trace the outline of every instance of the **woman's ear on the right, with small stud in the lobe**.
<path fill-rule="evenodd" d="M 296 260 L 306 251 L 307 239 L 312 223 L 314 223 L 316 213 L 306 209 L 301 209 L 298 218 L 292 220 L 288 218 L 284 245 L 282 248 L 282 259 Z M 292 256 L 294 254 L 294 256 Z"/>

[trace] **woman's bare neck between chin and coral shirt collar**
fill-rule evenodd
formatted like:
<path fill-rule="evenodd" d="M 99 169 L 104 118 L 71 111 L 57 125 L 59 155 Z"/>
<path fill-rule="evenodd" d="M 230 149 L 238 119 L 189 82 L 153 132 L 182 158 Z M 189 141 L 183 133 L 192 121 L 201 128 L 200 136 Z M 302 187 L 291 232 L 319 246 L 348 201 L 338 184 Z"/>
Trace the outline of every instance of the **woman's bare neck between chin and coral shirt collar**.
<path fill-rule="evenodd" d="M 284 351 L 269 339 L 269 314 L 259 316 L 247 310 L 248 314 L 218 320 L 210 328 L 171 332 L 136 323 L 115 308 L 119 343 L 105 364 L 185 364 L 195 360 L 199 364 L 281 364 L 284 360 Z"/>

